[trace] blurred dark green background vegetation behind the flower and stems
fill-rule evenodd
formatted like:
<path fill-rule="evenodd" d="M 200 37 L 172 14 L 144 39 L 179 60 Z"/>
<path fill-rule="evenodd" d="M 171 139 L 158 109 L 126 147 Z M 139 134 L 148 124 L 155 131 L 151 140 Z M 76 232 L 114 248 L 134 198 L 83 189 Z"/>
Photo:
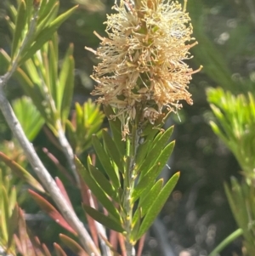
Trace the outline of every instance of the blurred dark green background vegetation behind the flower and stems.
<path fill-rule="evenodd" d="M 0 2 L 0 48 L 7 52 L 10 51 L 11 45 L 5 20 L 8 3 L 9 0 Z M 89 75 L 97 60 L 84 46 L 96 48 L 99 45 L 99 39 L 94 36 L 93 31 L 105 36 L 103 22 L 106 14 L 112 12 L 114 1 L 60 0 L 60 12 L 77 3 L 80 7 L 76 14 L 59 29 L 60 59 L 61 56 L 64 57 L 69 44 L 74 43 L 76 83 L 72 109 L 75 108 L 75 102 L 83 103 L 91 97 L 89 93 L 94 88 L 94 82 Z M 164 175 L 169 176 L 172 171 L 180 170 L 181 178 L 173 196 L 164 207 L 159 222 L 147 236 L 144 255 L 148 256 L 174 255 L 170 254 L 170 250 L 168 254 L 163 252 L 162 247 L 166 244 L 177 253 L 189 249 L 192 256 L 207 255 L 218 242 L 236 229 L 224 194 L 224 181 L 229 181 L 233 175 L 241 179 L 241 168 L 235 156 L 213 134 L 208 124 L 215 117 L 207 103 L 206 91 L 208 87 L 221 87 L 232 94 L 246 94 L 250 91 L 254 95 L 255 2 L 189 0 L 187 9 L 194 27 L 194 37 L 199 43 L 192 48 L 191 54 L 194 58 L 188 60 L 189 65 L 194 70 L 199 65 L 204 68 L 195 74 L 190 83 L 194 105 L 184 104 L 184 109 L 178 112 L 180 121 L 177 116 L 171 117 L 171 122 L 175 125 L 174 139 L 177 143 L 170 160 L 171 169 L 167 169 Z M 21 88 L 15 82 L 8 87 L 9 99 L 19 98 L 22 94 Z M 3 144 L 11 139 L 11 134 L 3 118 L 0 118 L 0 144 Z M 50 149 L 63 162 L 65 156 L 45 139 L 43 131 L 35 139 L 34 145 L 51 174 L 59 175 L 53 163 L 40 149 Z M 64 178 L 62 180 L 65 182 Z M 68 182 L 65 185 L 73 205 L 77 205 L 77 213 L 81 212 L 78 191 Z M 58 241 L 61 228 L 46 216 L 41 218 L 41 215 L 37 214 L 39 208 L 35 203 L 26 200 L 26 191 L 21 193 L 20 198 L 21 207 L 26 208 L 29 213 L 27 218 L 31 229 L 42 230 L 42 242 L 50 245 L 50 242 Z M 38 218 L 30 220 L 30 214 L 37 214 Z M 166 241 L 161 240 L 159 233 L 165 234 Z M 241 239 L 232 242 L 221 255 L 241 255 Z"/>

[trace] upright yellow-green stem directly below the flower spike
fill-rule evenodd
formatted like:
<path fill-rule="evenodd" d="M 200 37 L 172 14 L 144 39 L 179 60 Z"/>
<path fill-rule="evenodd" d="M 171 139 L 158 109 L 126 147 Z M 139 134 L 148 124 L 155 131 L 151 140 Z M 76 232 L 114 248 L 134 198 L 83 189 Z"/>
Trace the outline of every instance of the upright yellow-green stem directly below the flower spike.
<path fill-rule="evenodd" d="M 124 211 L 126 213 L 125 216 L 125 230 L 127 232 L 126 236 L 126 251 L 127 256 L 135 256 L 135 250 L 133 247 L 133 243 L 131 241 L 131 232 L 132 232 L 132 219 L 133 219 L 133 205 L 131 202 L 131 196 L 133 193 L 134 187 L 134 174 L 133 168 L 135 166 L 135 156 L 137 147 L 139 145 L 139 135 L 136 124 L 132 127 L 131 138 L 127 138 L 127 167 L 125 171 L 124 178 Z"/>

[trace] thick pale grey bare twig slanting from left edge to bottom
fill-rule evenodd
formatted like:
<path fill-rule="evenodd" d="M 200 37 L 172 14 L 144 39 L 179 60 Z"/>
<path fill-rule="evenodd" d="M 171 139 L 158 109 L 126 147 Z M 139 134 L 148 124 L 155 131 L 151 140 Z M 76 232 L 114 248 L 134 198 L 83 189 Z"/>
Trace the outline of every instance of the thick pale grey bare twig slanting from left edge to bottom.
<path fill-rule="evenodd" d="M 3 112 L 3 117 L 5 117 L 5 120 L 8 123 L 8 127 L 12 130 L 14 137 L 19 141 L 20 146 L 22 147 L 28 161 L 31 163 L 31 167 L 34 169 L 35 173 L 41 180 L 42 185 L 44 185 L 50 196 L 53 198 L 54 202 L 59 208 L 59 211 L 63 214 L 66 221 L 71 225 L 74 230 L 77 231 L 77 235 L 79 236 L 82 246 L 89 253 L 89 255 L 99 256 L 99 250 L 94 245 L 94 242 L 91 236 L 89 236 L 88 231 L 85 229 L 80 219 L 78 219 L 76 213 L 66 202 L 65 197 L 62 195 L 61 191 L 59 191 L 59 188 L 56 185 L 54 179 L 48 173 L 48 170 L 42 164 L 33 146 L 26 138 L 26 134 L 21 128 L 20 122 L 15 116 L 14 111 L 3 91 L 4 85 L 8 82 L 9 78 L 14 74 L 14 71 L 16 71 L 18 67 L 20 54 L 22 53 L 22 50 L 26 47 L 26 44 L 28 43 L 31 35 L 35 30 L 36 20 L 37 11 L 36 14 L 33 15 L 29 31 L 26 34 L 26 38 L 24 39 L 18 54 L 15 56 L 10 70 L 3 77 L 0 77 L 0 109 Z"/>

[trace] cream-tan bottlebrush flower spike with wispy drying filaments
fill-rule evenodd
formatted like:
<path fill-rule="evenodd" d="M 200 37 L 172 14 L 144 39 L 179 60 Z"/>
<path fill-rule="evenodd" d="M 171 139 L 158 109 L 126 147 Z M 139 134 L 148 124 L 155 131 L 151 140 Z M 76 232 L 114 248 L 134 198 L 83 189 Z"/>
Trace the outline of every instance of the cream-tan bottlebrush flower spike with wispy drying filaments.
<path fill-rule="evenodd" d="M 122 122 L 122 138 L 129 134 L 129 123 L 138 105 L 142 119 L 154 123 L 163 109 L 182 107 L 180 100 L 192 105 L 187 91 L 193 71 L 184 60 L 195 43 L 189 14 L 178 2 L 168 0 L 120 0 L 116 14 L 105 22 L 108 38 L 94 51 L 99 65 L 92 78 L 98 83 L 92 95 L 111 105 Z M 200 71 L 200 69 L 198 70 Z"/>

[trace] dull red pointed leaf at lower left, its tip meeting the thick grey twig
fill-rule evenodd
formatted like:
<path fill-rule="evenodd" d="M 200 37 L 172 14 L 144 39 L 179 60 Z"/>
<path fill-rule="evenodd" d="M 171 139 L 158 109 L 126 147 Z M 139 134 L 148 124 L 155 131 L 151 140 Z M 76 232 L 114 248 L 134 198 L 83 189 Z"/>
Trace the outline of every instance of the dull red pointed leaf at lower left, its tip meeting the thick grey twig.
<path fill-rule="evenodd" d="M 54 206 L 49 203 L 46 199 L 44 199 L 42 196 L 38 195 L 35 191 L 28 190 L 31 194 L 32 198 L 37 202 L 37 204 L 42 208 L 42 210 L 48 214 L 48 216 L 54 221 L 56 221 L 59 225 L 61 225 L 65 230 L 68 230 L 74 235 L 77 235 L 77 232 L 71 228 L 71 225 L 69 225 L 63 216 L 59 213 L 59 211 L 54 208 Z"/>

